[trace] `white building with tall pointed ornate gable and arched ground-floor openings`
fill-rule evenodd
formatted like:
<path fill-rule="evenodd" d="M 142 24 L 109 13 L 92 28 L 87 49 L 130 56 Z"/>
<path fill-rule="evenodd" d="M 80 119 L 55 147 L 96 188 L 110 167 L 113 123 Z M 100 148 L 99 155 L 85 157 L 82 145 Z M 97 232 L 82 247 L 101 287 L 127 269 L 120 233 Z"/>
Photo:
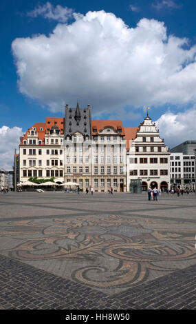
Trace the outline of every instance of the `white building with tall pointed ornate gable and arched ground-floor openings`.
<path fill-rule="evenodd" d="M 127 144 L 127 192 L 146 191 L 149 186 L 170 187 L 170 152 L 147 114 L 138 128 L 125 128 Z"/>

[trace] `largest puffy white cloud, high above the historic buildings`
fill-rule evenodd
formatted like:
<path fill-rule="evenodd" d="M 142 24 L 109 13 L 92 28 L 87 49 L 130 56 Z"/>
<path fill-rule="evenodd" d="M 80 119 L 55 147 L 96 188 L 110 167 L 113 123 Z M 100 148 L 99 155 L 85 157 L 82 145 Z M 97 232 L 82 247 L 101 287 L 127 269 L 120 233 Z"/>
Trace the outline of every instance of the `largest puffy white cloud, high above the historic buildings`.
<path fill-rule="evenodd" d="M 12 42 L 21 93 L 54 112 L 77 99 L 96 114 L 196 102 L 196 46 L 188 39 L 168 34 L 155 19 L 130 28 L 103 10 L 75 18 L 48 37 Z"/>

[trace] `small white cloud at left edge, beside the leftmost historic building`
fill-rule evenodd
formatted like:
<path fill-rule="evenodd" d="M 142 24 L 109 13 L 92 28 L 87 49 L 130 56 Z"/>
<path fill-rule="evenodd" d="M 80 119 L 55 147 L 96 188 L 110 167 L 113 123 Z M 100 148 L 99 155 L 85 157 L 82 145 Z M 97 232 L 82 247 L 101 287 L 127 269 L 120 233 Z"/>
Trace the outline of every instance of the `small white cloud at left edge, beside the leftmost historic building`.
<path fill-rule="evenodd" d="M 9 128 L 5 125 L 0 128 L 0 168 L 12 170 L 14 149 L 19 151 L 20 136 L 23 136 L 22 128 Z"/>

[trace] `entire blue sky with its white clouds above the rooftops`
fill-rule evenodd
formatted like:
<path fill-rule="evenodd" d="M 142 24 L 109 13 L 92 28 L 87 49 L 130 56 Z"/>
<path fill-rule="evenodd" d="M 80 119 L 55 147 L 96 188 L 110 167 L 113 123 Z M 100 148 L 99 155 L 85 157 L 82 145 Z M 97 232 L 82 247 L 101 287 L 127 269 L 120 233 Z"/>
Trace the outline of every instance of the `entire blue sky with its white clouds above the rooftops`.
<path fill-rule="evenodd" d="M 67 14 L 63 11 L 65 7 Z M 157 121 L 160 131 L 162 130 L 161 135 L 166 138 L 169 147 L 186 139 L 193 139 L 190 137 L 195 134 L 196 117 L 195 9 L 196 3 L 193 0 L 1 1 L 0 135 L 3 136 L 8 132 L 14 134 L 14 130 L 16 130 L 17 136 L 34 123 L 44 122 L 45 117 L 63 117 L 63 105 L 69 103 L 74 106 L 79 99 L 81 107 L 87 104 L 92 106 L 94 119 L 122 119 L 124 126 L 133 127 L 140 124 L 146 113 L 145 107 L 150 105 L 150 116 L 153 121 Z M 106 15 L 98 14 L 97 24 L 94 23 L 92 15 L 86 16 L 89 11 L 100 12 L 100 10 L 104 10 Z M 74 16 L 74 13 L 77 14 L 77 17 Z M 109 13 L 113 15 L 109 16 Z M 87 17 L 87 19 L 83 17 Z M 107 23 L 102 24 L 103 18 Z M 118 19 L 121 19 L 121 22 Z M 82 21 L 85 21 L 86 25 L 84 23 L 79 25 Z M 69 45 L 71 43 L 71 46 L 76 48 L 74 50 L 76 57 L 70 60 L 70 53 L 66 54 L 66 48 L 62 50 L 62 57 L 61 55 L 57 56 L 59 65 L 61 65 L 56 67 L 56 71 L 58 71 L 56 75 L 54 72 L 56 83 L 52 88 L 54 83 L 50 83 L 47 79 L 47 76 L 49 79 L 51 78 L 52 72 L 50 69 L 45 72 L 47 64 L 48 66 L 52 65 L 55 61 L 54 67 L 56 66 L 58 59 L 53 52 L 55 46 L 56 52 L 60 48 L 59 33 L 66 33 L 67 27 L 72 25 L 69 41 L 65 37 L 62 39 L 62 43 L 64 44 L 66 41 Z M 59 27 L 56 28 L 56 26 Z M 89 28 L 88 34 L 91 35 L 89 40 L 87 34 L 84 34 L 85 28 Z M 131 28 L 133 29 L 133 39 L 130 40 Z M 100 34 L 98 34 L 99 32 Z M 127 36 L 125 36 L 125 41 L 124 39 L 120 41 L 119 44 L 122 45 L 122 48 L 118 48 L 118 32 L 120 35 L 123 32 L 126 35 L 127 32 L 129 34 L 129 42 Z M 53 39 L 51 34 L 54 36 Z M 100 42 L 99 38 L 102 37 L 102 34 L 104 34 L 104 40 Z M 44 64 L 41 63 L 42 61 L 39 62 L 38 50 L 40 48 L 38 44 L 43 45 L 41 38 L 43 36 L 49 40 L 50 50 L 53 50 L 48 63 Z M 169 37 L 173 37 L 171 41 L 169 41 Z M 185 38 L 186 41 L 182 41 Z M 19 41 L 20 39 L 21 41 Z M 74 43 L 74 39 L 76 43 Z M 156 43 L 153 39 L 156 39 Z M 82 40 L 81 43 L 80 40 Z M 36 41 L 36 48 L 35 56 L 32 57 L 31 49 L 34 51 L 34 41 Z M 132 41 L 133 43 L 131 43 Z M 149 42 L 151 51 L 149 53 L 146 52 L 148 45 L 145 44 L 145 48 L 142 45 L 145 41 L 146 44 Z M 89 53 L 91 53 L 87 61 L 85 61 L 85 57 L 88 55 L 88 50 L 84 48 L 83 43 L 89 46 Z M 92 48 L 91 43 L 93 43 Z M 65 46 L 68 46 L 67 44 Z M 131 51 L 131 46 L 133 46 L 133 51 Z M 133 64 L 135 51 L 138 48 L 141 48 L 138 52 L 140 63 Z M 127 50 L 128 52 L 130 50 L 130 55 L 124 56 L 122 66 L 121 59 Z M 98 57 L 96 57 L 96 52 L 99 53 Z M 65 57 L 63 57 L 64 54 Z M 93 57 L 92 61 L 91 57 Z M 157 65 L 155 67 L 153 65 L 154 57 L 160 72 L 156 72 Z M 53 59 L 54 61 L 52 61 Z M 126 64 L 124 64 L 126 59 L 129 61 L 127 62 L 127 71 Z M 160 60 L 163 60 L 162 63 Z M 67 63 L 68 61 L 69 63 Z M 85 62 L 84 66 L 82 66 L 83 61 Z M 170 62 L 171 67 L 175 66 L 171 74 L 169 73 L 169 70 L 172 70 L 169 66 Z M 25 72 L 21 72 L 21 67 L 23 68 L 24 65 Z M 36 73 L 36 69 L 38 73 Z M 62 76 L 59 77 L 61 70 Z M 100 70 L 101 77 L 98 76 L 98 70 Z M 46 80 L 44 85 L 44 81 L 41 79 L 43 74 L 44 80 Z M 41 83 L 36 83 L 36 78 L 39 78 Z M 68 78 L 70 82 L 65 82 L 64 102 L 62 83 Z M 143 78 L 144 80 L 142 80 Z M 162 78 L 168 79 L 171 86 L 167 88 L 166 81 L 164 84 L 161 82 Z M 103 79 L 107 83 L 102 83 Z M 116 82 L 113 82 L 114 80 Z M 58 82 L 61 84 L 59 87 Z M 182 85 L 182 83 L 184 84 Z M 108 84 L 110 86 L 107 87 Z M 119 94 L 117 93 L 118 89 Z M 188 132 L 186 130 L 187 116 L 192 122 L 194 121 L 193 125 L 190 123 Z M 171 129 L 173 129 L 173 133 Z M 174 141 L 175 134 L 178 134 L 176 136 L 178 138 Z M 8 145 L 5 136 L 2 136 L 0 139 L 0 166 L 4 165 L 5 167 L 6 163 L 3 159 L 8 156 L 6 151 Z M 11 138 L 12 136 L 10 136 Z"/>

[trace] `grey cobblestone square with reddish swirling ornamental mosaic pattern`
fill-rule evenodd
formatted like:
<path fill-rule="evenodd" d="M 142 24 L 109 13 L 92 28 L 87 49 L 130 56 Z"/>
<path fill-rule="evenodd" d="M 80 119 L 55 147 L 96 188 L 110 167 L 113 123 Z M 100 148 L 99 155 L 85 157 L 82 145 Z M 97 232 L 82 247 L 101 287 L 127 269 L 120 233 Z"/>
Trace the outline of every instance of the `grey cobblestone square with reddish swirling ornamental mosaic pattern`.
<path fill-rule="evenodd" d="M 0 194 L 0 309 L 196 309 L 195 194 Z"/>

